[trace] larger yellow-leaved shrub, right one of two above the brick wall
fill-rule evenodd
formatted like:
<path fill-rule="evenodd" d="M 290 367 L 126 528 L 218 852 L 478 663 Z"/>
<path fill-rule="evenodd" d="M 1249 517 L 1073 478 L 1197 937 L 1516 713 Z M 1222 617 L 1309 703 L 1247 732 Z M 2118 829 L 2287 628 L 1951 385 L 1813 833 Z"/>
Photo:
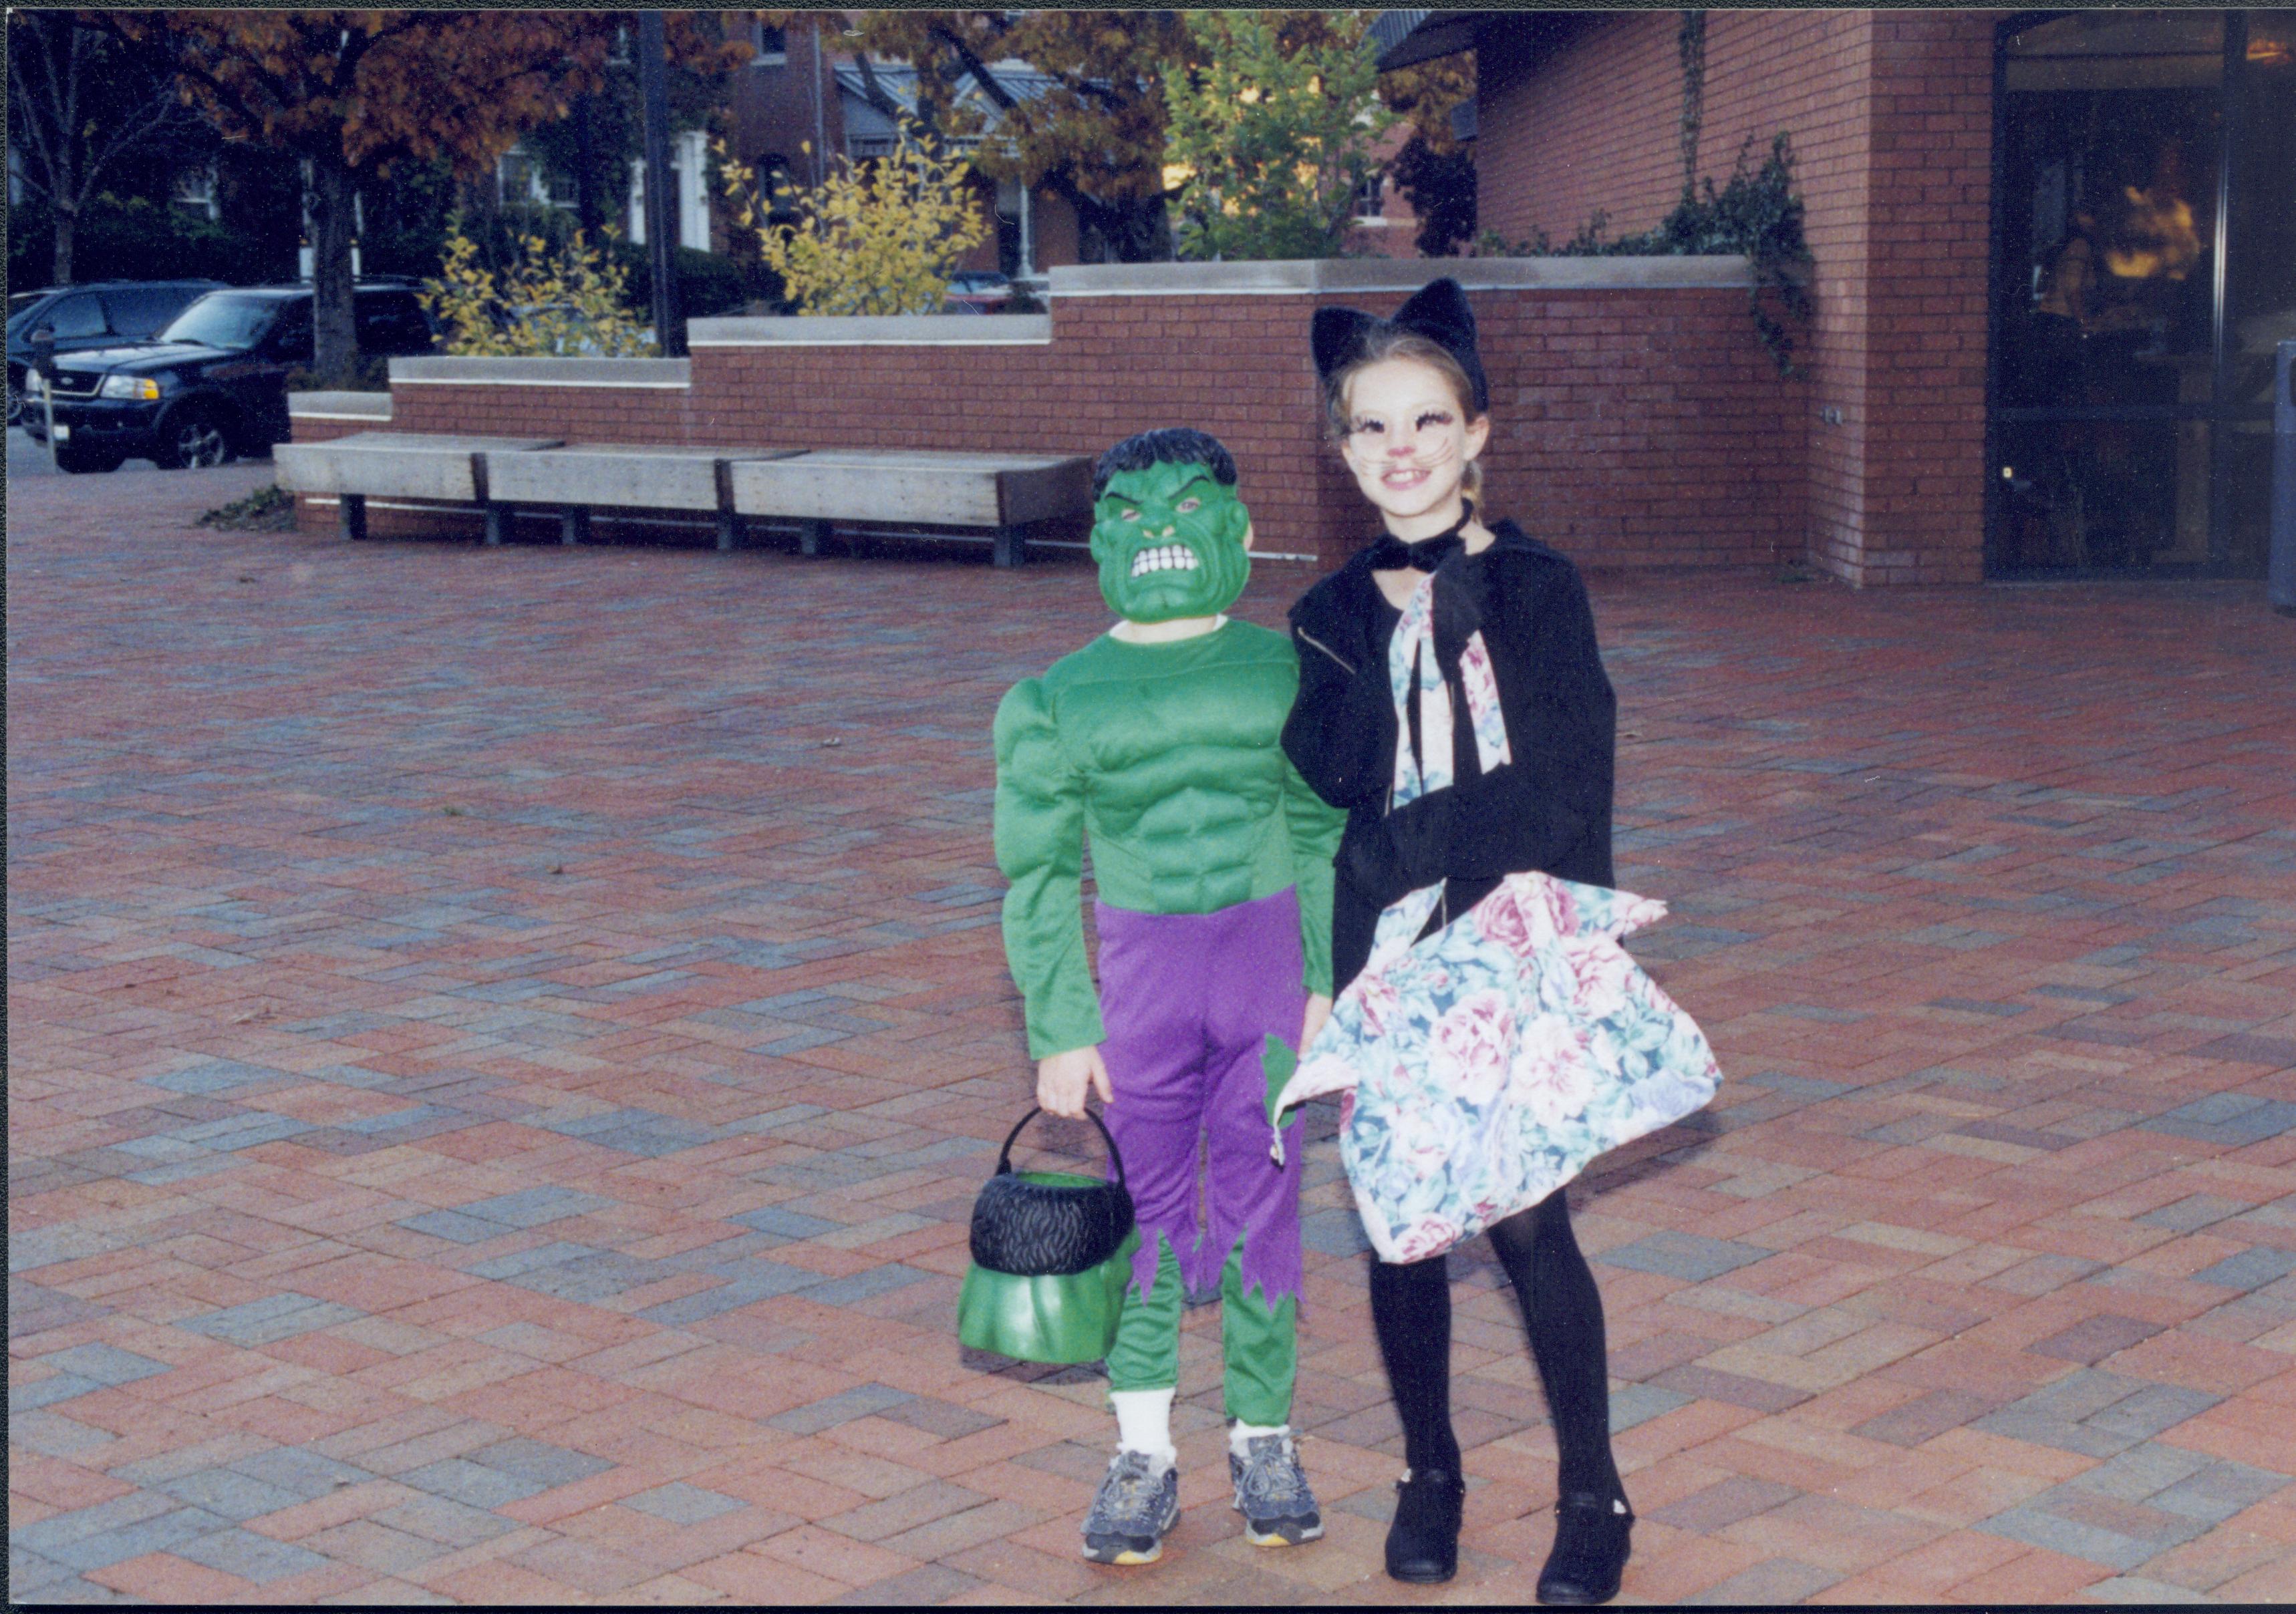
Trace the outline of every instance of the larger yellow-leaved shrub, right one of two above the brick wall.
<path fill-rule="evenodd" d="M 840 163 L 813 188 L 783 181 L 771 197 L 755 170 L 716 154 L 735 220 L 758 232 L 804 315 L 937 315 L 957 259 L 987 236 L 971 163 L 934 156 L 909 122 L 889 156 Z"/>

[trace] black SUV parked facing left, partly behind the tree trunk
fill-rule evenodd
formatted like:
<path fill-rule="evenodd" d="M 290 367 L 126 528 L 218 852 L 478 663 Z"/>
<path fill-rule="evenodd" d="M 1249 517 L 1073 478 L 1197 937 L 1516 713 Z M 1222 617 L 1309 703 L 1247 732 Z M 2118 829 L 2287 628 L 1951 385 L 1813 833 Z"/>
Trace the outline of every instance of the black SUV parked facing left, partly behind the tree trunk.
<path fill-rule="evenodd" d="M 354 289 L 358 351 L 427 354 L 439 337 L 411 285 Z M 220 466 L 287 441 L 287 372 L 312 358 L 312 294 L 301 287 L 209 292 L 152 342 L 55 360 L 55 464 L 117 471 Z M 32 377 L 23 425 L 48 441 Z"/>

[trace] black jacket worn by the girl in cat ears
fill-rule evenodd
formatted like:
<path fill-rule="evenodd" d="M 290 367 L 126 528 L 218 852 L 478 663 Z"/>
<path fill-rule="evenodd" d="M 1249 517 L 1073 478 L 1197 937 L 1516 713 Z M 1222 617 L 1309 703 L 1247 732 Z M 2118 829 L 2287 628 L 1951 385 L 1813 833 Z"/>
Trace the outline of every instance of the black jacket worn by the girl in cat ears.
<path fill-rule="evenodd" d="M 1612 884 L 1616 698 L 1596 652 L 1587 585 L 1570 560 L 1513 521 L 1492 533 L 1497 542 L 1481 556 L 1451 556 L 1435 574 L 1435 659 L 1458 714 L 1456 783 L 1398 813 L 1387 810 L 1396 762 L 1387 641 L 1401 613 L 1380 595 L 1366 556 L 1316 583 L 1290 611 L 1300 698 L 1283 723 L 1283 751 L 1325 801 L 1348 810 L 1332 914 L 1339 985 L 1371 955 L 1380 909 L 1437 879 L 1449 879 L 1442 911 L 1453 916 L 1502 875 L 1545 870 Z M 1490 647 L 1513 753 L 1488 776 L 1458 682 L 1458 657 L 1476 627 Z"/>

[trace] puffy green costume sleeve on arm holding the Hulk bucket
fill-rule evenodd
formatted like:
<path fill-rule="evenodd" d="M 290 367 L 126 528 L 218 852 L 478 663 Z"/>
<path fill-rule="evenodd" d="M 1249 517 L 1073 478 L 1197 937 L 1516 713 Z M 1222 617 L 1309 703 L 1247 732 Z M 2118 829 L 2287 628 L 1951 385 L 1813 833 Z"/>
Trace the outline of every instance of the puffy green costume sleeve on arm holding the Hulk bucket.
<path fill-rule="evenodd" d="M 1022 680 L 996 705 L 996 868 L 1006 962 L 1019 985 L 1029 1056 L 1102 1038 L 1100 996 L 1084 960 L 1084 781 L 1061 755 L 1042 680 Z"/>

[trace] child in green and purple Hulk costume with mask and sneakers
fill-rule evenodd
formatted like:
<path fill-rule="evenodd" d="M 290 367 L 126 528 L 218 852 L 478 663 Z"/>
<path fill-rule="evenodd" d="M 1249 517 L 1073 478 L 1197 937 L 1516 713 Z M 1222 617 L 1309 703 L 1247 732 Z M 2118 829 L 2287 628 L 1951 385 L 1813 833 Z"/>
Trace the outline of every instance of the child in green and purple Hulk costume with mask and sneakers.
<path fill-rule="evenodd" d="M 1228 450 L 1182 427 L 1143 432 L 1102 455 L 1093 498 L 1100 592 L 1123 620 L 996 709 L 996 863 L 1013 882 L 1006 957 L 1038 1102 L 1081 1116 L 1086 1086 L 1100 1093 L 1139 1212 L 1109 1350 L 1118 1453 L 1084 1557 L 1150 1563 L 1180 1513 L 1180 1309 L 1215 1283 L 1244 1534 L 1263 1547 L 1322 1536 L 1290 1440 L 1300 1123 L 1277 1164 L 1265 1102 L 1329 1012 L 1343 817 L 1283 755 L 1300 686 L 1290 638 L 1221 615 L 1251 576 Z M 1097 996 L 1079 911 L 1086 836 Z"/>

